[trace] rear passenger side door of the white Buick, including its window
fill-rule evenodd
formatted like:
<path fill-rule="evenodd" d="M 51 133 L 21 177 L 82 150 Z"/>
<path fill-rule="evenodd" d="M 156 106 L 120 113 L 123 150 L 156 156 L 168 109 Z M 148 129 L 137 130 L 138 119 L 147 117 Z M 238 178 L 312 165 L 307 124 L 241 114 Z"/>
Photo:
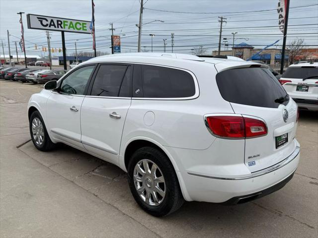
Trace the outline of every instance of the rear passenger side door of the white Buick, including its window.
<path fill-rule="evenodd" d="M 131 64 L 100 64 L 81 106 L 83 146 L 114 164 L 118 164 L 121 136 L 131 104 L 132 72 Z"/>

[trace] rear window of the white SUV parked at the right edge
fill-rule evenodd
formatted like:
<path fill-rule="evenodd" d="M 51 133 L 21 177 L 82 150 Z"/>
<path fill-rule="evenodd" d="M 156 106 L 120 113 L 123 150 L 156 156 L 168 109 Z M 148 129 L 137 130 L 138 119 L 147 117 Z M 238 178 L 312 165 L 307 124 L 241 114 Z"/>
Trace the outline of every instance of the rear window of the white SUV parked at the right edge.
<path fill-rule="evenodd" d="M 316 77 L 315 77 L 316 76 Z M 282 78 L 308 78 L 312 77 L 318 79 L 318 67 L 303 66 L 303 67 L 289 67 L 283 73 Z"/>

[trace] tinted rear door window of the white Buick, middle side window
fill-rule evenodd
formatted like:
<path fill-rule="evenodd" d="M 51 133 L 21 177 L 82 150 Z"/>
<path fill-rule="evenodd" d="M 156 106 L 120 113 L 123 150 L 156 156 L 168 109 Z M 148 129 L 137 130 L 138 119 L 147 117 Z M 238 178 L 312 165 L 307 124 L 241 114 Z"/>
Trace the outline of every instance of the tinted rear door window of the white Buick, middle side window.
<path fill-rule="evenodd" d="M 90 95 L 130 97 L 130 68 L 128 65 L 100 65 Z"/>

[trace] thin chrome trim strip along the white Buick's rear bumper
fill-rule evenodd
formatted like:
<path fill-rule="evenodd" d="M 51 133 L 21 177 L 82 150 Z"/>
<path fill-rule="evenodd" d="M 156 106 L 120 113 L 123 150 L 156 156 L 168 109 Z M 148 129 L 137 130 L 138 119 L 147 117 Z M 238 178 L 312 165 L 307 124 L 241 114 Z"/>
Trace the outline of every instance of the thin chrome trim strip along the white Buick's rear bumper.
<path fill-rule="evenodd" d="M 199 174 L 194 174 L 194 173 L 188 173 L 188 175 L 198 176 L 198 177 L 203 177 L 203 178 L 208 178 L 208 179 L 222 179 L 222 180 L 252 179 L 252 178 L 266 175 L 268 173 L 271 173 L 271 172 L 274 172 L 276 170 L 283 168 L 285 165 L 292 162 L 298 156 L 299 152 L 300 152 L 300 147 L 296 146 L 296 149 L 294 150 L 294 152 L 290 156 L 288 156 L 287 158 L 282 160 L 281 162 L 278 162 L 277 164 L 272 165 L 266 169 L 253 172 L 253 173 L 251 173 L 251 175 L 248 175 L 248 176 L 237 177 L 237 178 L 224 178 L 224 177 L 213 177 L 213 176 L 199 175 Z"/>

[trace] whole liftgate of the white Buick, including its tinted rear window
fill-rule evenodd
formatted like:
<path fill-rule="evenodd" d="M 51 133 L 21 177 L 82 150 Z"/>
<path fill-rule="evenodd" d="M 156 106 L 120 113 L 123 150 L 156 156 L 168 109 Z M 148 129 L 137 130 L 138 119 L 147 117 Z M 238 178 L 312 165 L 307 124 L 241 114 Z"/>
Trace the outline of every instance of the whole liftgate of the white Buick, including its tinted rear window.
<path fill-rule="evenodd" d="M 267 68 L 228 69 L 217 74 L 217 83 L 236 114 L 266 123 L 266 135 L 245 139 L 244 163 L 251 172 L 292 154 L 296 149 L 297 105 Z"/>

